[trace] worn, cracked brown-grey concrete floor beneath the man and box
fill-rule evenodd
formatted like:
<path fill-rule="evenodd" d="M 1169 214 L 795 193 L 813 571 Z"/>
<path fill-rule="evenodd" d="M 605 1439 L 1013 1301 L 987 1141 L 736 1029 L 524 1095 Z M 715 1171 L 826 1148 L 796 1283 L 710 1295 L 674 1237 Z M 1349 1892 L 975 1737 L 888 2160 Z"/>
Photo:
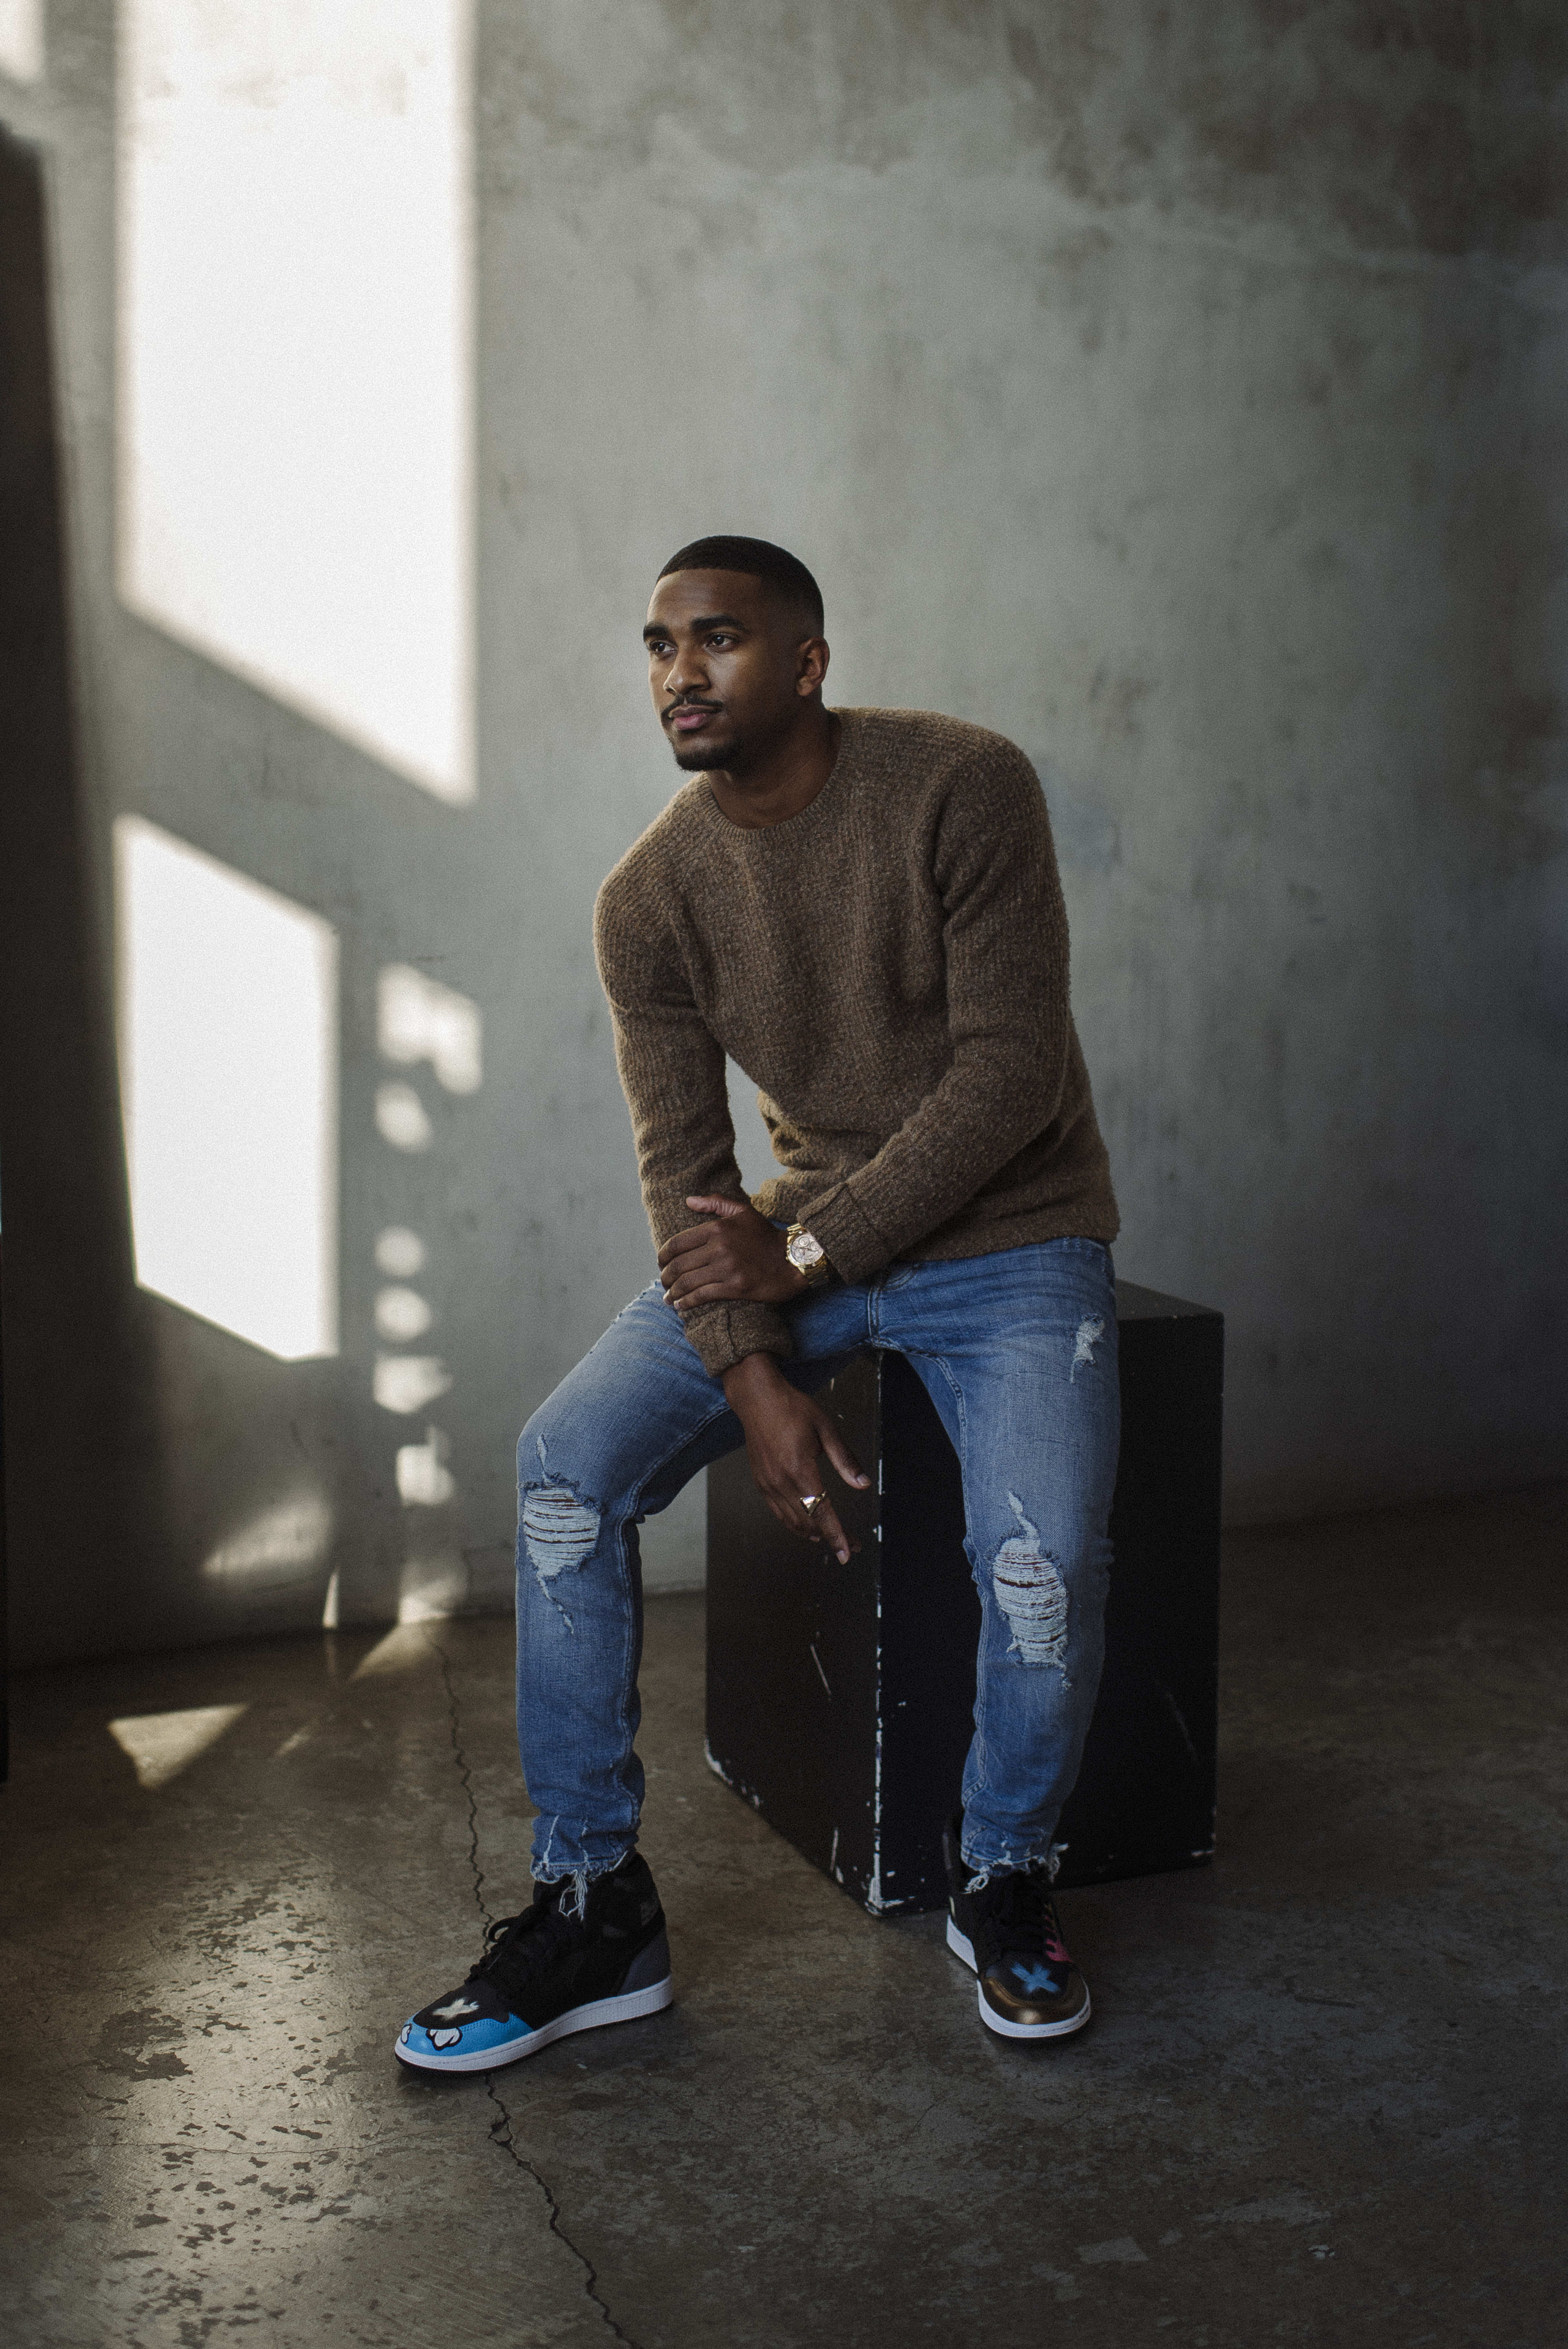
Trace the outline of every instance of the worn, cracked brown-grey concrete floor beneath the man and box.
<path fill-rule="evenodd" d="M 390 2046 L 521 1896 L 509 1626 L 35 1677 L 7 2342 L 1556 2349 L 1566 1515 L 1230 1541 L 1221 1858 L 1066 1898 L 1054 2048 L 709 1776 L 699 1600 L 648 1626 L 678 2004 L 488 2084 Z"/>

